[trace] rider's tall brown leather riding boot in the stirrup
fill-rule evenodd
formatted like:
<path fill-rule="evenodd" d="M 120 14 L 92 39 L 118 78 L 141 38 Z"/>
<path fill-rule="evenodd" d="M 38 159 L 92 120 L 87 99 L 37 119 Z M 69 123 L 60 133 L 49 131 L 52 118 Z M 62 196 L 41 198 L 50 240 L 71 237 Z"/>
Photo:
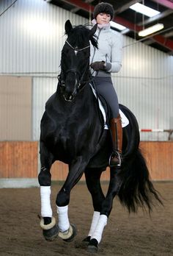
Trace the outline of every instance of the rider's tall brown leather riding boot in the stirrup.
<path fill-rule="evenodd" d="M 122 121 L 120 115 L 112 118 L 110 122 L 113 152 L 109 158 L 109 166 L 120 167 L 122 164 Z"/>

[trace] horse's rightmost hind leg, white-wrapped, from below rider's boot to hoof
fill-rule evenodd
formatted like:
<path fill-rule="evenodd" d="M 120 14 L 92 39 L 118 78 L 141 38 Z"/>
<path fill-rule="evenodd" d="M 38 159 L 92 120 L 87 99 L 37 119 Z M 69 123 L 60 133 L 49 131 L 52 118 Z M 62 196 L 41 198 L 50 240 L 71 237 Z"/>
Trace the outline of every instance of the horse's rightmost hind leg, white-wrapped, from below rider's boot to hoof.
<path fill-rule="evenodd" d="M 121 184 L 121 179 L 118 177 L 115 169 L 111 168 L 111 178 L 108 186 L 108 193 L 106 194 L 106 199 L 104 199 L 102 203 L 100 217 L 98 218 L 97 225 L 94 232 L 92 232 L 92 236 L 89 241 L 89 252 L 97 252 L 97 245 L 101 241 L 104 227 L 106 226 L 108 216 L 111 213 L 114 196 L 116 196 L 118 193 Z"/>

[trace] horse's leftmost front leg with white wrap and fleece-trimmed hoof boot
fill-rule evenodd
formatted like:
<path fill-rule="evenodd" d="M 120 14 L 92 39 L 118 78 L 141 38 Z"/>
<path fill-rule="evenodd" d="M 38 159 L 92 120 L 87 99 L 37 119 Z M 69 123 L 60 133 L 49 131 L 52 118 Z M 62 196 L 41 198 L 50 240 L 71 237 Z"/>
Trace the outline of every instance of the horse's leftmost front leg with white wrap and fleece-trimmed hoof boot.
<path fill-rule="evenodd" d="M 52 216 L 51 209 L 51 165 L 53 163 L 53 155 L 48 152 L 44 143 L 40 143 L 40 161 L 41 170 L 38 175 L 40 183 L 41 197 L 41 221 L 40 227 L 43 229 L 45 240 L 52 241 L 59 233 L 59 228 L 56 225 L 55 218 Z"/>

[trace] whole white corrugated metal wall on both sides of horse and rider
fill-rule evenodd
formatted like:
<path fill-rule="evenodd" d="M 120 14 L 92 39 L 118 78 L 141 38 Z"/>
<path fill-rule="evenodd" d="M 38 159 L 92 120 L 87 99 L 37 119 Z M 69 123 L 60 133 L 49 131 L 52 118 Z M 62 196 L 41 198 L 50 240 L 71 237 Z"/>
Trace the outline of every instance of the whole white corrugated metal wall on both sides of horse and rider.
<path fill-rule="evenodd" d="M 1 12 L 12 1 L 0 1 Z M 64 25 L 86 19 L 43 0 L 20 0 L 0 18 L 0 74 L 32 76 L 32 139 L 56 90 Z M 173 57 L 124 37 L 122 71 L 113 75 L 119 102 L 136 115 L 140 128 L 172 129 Z M 22 127 L 19 127 L 22 129 Z M 166 140 L 167 134 L 141 134 L 142 140 Z"/>

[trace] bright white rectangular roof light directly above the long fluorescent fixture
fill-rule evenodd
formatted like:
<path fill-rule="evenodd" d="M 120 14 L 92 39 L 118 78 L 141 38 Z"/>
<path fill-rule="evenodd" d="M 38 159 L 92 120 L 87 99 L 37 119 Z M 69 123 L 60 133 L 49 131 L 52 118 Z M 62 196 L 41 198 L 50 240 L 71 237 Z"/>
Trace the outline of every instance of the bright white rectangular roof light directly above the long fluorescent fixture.
<path fill-rule="evenodd" d="M 140 3 L 132 4 L 129 8 L 132 10 L 135 10 L 137 13 L 144 14 L 148 17 L 153 17 L 160 13 L 157 10 L 154 10 L 154 9 L 147 7 L 144 4 L 140 4 Z"/>

